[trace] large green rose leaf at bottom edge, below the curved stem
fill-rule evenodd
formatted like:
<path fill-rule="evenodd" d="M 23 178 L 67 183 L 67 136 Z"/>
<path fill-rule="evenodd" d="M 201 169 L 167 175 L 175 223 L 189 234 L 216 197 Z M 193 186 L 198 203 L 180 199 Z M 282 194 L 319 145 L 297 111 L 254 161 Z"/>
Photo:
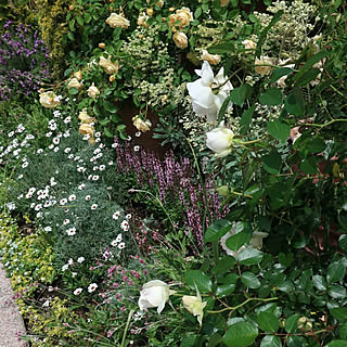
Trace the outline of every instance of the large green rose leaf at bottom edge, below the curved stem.
<path fill-rule="evenodd" d="M 247 347 L 250 346 L 258 336 L 256 326 L 248 322 L 239 322 L 228 329 L 223 336 L 223 342 L 230 347 Z"/>

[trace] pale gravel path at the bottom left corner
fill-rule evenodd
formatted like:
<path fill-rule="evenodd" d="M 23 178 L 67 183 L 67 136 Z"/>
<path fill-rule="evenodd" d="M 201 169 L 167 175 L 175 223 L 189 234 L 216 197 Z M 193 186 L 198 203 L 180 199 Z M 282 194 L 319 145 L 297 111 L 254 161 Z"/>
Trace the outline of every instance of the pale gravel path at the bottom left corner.
<path fill-rule="evenodd" d="M 18 336 L 25 333 L 22 316 L 12 299 L 10 280 L 0 264 L 0 347 L 24 347 Z"/>

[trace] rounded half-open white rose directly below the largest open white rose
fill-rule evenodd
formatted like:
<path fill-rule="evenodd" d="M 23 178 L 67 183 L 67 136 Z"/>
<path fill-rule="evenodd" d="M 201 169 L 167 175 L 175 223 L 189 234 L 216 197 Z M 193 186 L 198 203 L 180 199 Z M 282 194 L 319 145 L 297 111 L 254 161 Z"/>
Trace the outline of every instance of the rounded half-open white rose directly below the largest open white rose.
<path fill-rule="evenodd" d="M 234 133 L 224 127 L 221 121 L 218 128 L 206 133 L 206 145 L 216 153 L 216 156 L 222 158 L 231 152 L 231 144 Z"/>

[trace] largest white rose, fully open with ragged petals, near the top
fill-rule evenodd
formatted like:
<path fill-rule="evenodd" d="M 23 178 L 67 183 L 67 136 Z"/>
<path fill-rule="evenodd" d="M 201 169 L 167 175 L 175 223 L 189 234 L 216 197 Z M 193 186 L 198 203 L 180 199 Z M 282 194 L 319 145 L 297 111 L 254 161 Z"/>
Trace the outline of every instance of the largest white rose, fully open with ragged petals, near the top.
<path fill-rule="evenodd" d="M 202 69 L 195 69 L 195 73 L 201 78 L 187 83 L 193 110 L 200 116 L 207 116 L 209 121 L 216 121 L 218 112 L 233 87 L 224 77 L 223 67 L 214 77 L 214 72 L 208 62 L 204 62 Z M 228 108 L 230 106 L 231 103 Z"/>

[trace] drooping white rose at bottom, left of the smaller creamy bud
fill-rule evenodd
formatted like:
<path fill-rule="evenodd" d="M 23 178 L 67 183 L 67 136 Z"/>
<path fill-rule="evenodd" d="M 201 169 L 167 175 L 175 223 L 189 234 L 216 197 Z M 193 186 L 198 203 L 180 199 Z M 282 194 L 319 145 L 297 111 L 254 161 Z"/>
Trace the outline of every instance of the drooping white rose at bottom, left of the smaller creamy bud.
<path fill-rule="evenodd" d="M 157 307 L 157 312 L 160 314 L 165 304 L 169 300 L 169 296 L 175 291 L 170 291 L 169 286 L 159 280 L 153 280 L 143 285 L 140 292 L 139 307 L 141 311 L 146 311 L 149 308 Z"/>

